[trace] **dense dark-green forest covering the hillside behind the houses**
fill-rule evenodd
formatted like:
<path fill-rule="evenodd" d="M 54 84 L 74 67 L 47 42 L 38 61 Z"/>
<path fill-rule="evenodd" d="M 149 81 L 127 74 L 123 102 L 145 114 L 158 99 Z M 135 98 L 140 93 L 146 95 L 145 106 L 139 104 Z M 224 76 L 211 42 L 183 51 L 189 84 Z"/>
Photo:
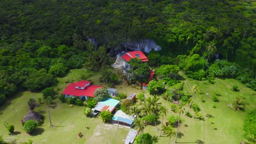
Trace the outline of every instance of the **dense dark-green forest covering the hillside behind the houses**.
<path fill-rule="evenodd" d="M 165 55 L 162 64 L 193 79 L 231 77 L 255 90 L 255 13 L 251 0 L 2 0 L 0 104 L 18 89 L 53 86 L 69 69 L 100 70 L 111 49 L 142 39 L 162 47 L 149 53 L 151 65 Z"/>

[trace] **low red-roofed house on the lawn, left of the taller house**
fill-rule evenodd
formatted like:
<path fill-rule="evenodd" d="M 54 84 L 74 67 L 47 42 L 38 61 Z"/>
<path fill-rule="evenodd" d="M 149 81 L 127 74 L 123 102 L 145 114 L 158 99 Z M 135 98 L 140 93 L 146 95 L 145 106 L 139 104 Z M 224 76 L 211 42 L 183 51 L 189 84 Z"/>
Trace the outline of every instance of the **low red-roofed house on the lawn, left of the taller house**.
<path fill-rule="evenodd" d="M 65 97 L 79 97 L 82 99 L 83 97 L 87 100 L 88 97 L 95 97 L 94 92 L 97 88 L 102 86 L 90 85 L 90 81 L 78 81 L 69 84 L 66 89 L 62 92 Z"/>

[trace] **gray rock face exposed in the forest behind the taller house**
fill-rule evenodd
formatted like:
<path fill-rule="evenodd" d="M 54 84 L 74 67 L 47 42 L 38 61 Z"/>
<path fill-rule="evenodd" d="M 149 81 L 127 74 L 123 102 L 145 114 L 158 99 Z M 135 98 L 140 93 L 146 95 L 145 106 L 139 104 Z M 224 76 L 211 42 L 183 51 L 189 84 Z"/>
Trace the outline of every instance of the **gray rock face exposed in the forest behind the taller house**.
<path fill-rule="evenodd" d="M 153 49 L 155 51 L 160 51 L 161 47 L 156 45 L 153 39 L 145 39 L 140 41 L 127 41 L 125 43 L 121 43 L 121 45 L 125 48 L 125 50 L 130 49 L 132 51 L 144 51 L 149 53 Z"/>

